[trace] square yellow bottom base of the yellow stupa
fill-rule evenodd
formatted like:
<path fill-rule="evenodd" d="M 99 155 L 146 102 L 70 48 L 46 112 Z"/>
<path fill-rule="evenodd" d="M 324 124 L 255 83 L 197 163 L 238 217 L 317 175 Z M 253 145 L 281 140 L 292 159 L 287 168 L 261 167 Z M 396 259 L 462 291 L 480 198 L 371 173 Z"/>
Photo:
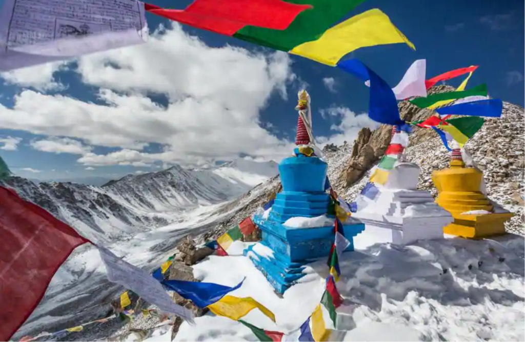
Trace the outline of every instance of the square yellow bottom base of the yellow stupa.
<path fill-rule="evenodd" d="M 487 236 L 505 234 L 505 222 L 514 214 L 457 214 L 454 222 L 447 225 L 443 231 L 445 234 L 466 237 L 467 239 L 480 239 Z"/>

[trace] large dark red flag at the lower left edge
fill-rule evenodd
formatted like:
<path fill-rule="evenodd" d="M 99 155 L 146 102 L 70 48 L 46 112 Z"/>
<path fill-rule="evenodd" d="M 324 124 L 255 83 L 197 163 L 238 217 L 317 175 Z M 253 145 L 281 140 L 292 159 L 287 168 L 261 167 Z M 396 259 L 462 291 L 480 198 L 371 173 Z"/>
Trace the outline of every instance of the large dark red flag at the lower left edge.
<path fill-rule="evenodd" d="M 44 297 L 58 267 L 90 242 L 38 205 L 0 186 L 0 340 L 7 341 Z"/>

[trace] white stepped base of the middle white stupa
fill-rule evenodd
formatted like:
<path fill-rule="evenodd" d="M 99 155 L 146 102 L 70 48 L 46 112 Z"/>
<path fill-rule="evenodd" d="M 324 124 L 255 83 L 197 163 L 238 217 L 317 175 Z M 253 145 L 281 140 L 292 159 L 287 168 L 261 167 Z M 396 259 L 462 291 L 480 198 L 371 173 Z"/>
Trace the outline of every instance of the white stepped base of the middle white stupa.
<path fill-rule="evenodd" d="M 375 201 L 352 215 L 366 225 L 366 230 L 355 237 L 358 248 L 443 239 L 443 227 L 454 220 L 428 191 L 376 188 L 379 194 Z"/>

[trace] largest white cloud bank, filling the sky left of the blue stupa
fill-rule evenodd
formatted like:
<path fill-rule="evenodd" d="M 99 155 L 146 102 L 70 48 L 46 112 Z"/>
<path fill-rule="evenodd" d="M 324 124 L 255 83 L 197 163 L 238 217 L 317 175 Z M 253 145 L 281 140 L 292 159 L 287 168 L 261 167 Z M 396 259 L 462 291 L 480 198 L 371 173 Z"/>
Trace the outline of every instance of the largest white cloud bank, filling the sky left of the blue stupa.
<path fill-rule="evenodd" d="M 174 23 L 146 44 L 79 59 L 82 80 L 101 87 L 98 96 L 106 106 L 24 90 L 12 110 L 0 106 L 0 127 L 121 148 L 83 154 L 79 162 L 86 166 L 155 160 L 199 165 L 239 153 L 280 159 L 290 153 L 290 142 L 262 128 L 259 111 L 274 92 L 286 98 L 286 86 L 295 79 L 290 65 L 286 53 L 208 47 Z M 165 94 L 167 108 L 144 95 L 151 92 Z M 45 141 L 36 146 L 56 153 L 84 149 L 78 141 Z M 142 152 L 150 143 L 163 150 Z"/>

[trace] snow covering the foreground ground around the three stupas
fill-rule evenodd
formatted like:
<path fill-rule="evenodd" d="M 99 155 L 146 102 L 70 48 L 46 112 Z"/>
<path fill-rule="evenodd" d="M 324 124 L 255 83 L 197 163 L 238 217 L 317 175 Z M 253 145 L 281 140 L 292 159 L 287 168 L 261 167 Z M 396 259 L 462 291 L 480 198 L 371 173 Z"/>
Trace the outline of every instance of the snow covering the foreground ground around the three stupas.
<path fill-rule="evenodd" d="M 524 247 L 523 237 L 514 235 L 405 247 L 375 244 L 344 253 L 337 284 L 345 299 L 338 309 L 341 331 L 331 340 L 523 340 Z M 290 334 L 283 340 L 297 337 L 296 329 L 324 291 L 324 258 L 310 264 L 307 272 L 280 298 L 247 257 L 210 256 L 194 266 L 195 277 L 203 282 L 233 286 L 246 277 L 231 295 L 254 297 L 276 315 L 277 324 L 258 310 L 243 319 Z M 195 321 L 195 327 L 183 323 L 175 341 L 257 340 L 240 323 L 211 313 Z"/>

